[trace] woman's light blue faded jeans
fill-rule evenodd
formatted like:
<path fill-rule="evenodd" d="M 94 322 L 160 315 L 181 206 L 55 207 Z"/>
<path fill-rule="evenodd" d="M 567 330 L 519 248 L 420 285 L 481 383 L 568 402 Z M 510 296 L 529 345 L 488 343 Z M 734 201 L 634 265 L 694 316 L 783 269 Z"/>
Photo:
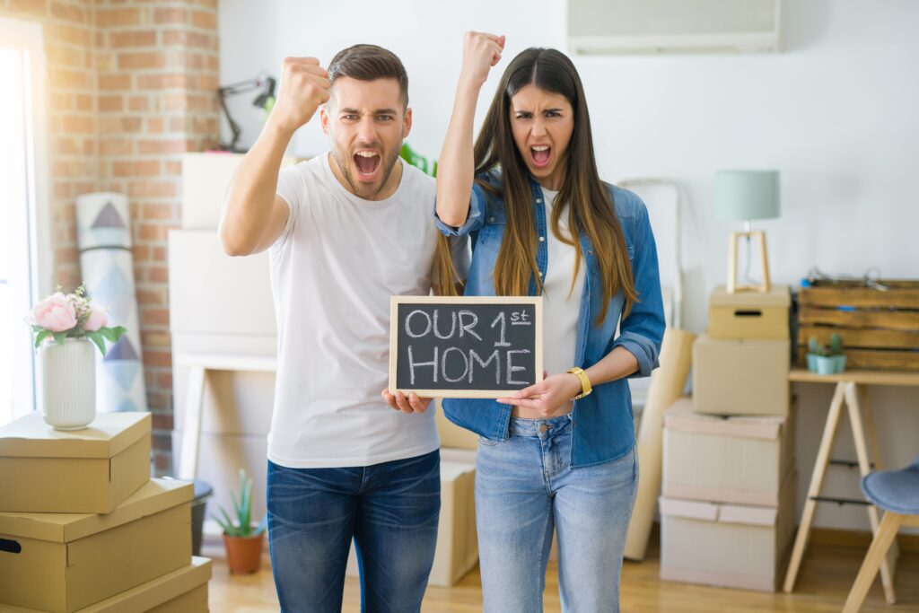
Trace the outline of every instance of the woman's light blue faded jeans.
<path fill-rule="evenodd" d="M 553 530 L 562 611 L 619 610 L 619 573 L 638 482 L 632 448 L 571 468 L 572 419 L 511 419 L 505 441 L 479 440 L 475 510 L 485 613 L 542 610 Z"/>

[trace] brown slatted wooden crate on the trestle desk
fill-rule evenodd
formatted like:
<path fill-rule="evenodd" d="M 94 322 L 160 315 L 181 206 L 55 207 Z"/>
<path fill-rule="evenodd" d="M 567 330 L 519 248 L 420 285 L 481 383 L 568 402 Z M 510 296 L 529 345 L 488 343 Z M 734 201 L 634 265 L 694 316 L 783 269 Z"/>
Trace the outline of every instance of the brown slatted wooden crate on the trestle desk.
<path fill-rule="evenodd" d="M 881 280 L 890 289 L 839 282 L 801 288 L 798 295 L 798 360 L 808 342 L 843 339 L 846 369 L 919 370 L 919 281 Z"/>

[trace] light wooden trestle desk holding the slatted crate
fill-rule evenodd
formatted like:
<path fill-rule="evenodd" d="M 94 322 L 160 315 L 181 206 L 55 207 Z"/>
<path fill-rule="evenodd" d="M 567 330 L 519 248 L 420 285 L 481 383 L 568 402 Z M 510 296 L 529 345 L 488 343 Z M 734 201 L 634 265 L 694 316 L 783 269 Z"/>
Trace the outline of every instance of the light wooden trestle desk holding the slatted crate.
<path fill-rule="evenodd" d="M 805 369 L 792 369 L 789 373 L 789 381 L 800 383 L 835 383 L 833 400 L 830 403 L 830 412 L 826 416 L 826 425 L 823 426 L 823 437 L 820 441 L 820 448 L 817 451 L 817 461 L 811 474 L 811 485 L 808 488 L 807 502 L 804 503 L 804 512 L 801 514 L 798 535 L 795 538 L 794 548 L 791 551 L 791 562 L 789 570 L 785 575 L 784 590 L 790 593 L 795 586 L 795 579 L 798 577 L 801 559 L 804 557 L 804 549 L 807 547 L 808 538 L 811 536 L 811 524 L 813 516 L 817 510 L 817 503 L 821 502 L 820 491 L 823 487 L 823 476 L 826 474 L 826 467 L 830 464 L 830 452 L 833 449 L 833 442 L 836 436 L 836 429 L 839 426 L 839 419 L 842 415 L 843 404 L 845 403 L 849 415 L 849 421 L 852 423 L 852 437 L 855 441 L 856 456 L 858 459 L 858 471 L 862 476 L 871 471 L 871 460 L 868 457 L 868 447 L 871 449 L 871 456 L 874 459 L 875 470 L 881 470 L 880 455 L 878 448 L 878 437 L 875 432 L 874 418 L 871 414 L 871 406 L 868 403 L 868 385 L 902 385 L 919 387 L 919 372 L 899 372 L 899 371 L 881 371 L 881 370 L 846 370 L 845 372 L 835 375 L 818 375 Z M 864 421 L 862 419 L 862 409 L 864 408 Z M 867 435 L 867 437 L 866 437 Z M 855 501 L 853 501 L 855 502 Z M 871 523 L 871 531 L 878 533 L 879 518 L 878 508 L 874 505 L 867 505 L 868 520 Z M 893 591 L 893 570 L 899 551 L 896 543 L 891 547 L 891 552 L 880 566 L 880 580 L 884 586 L 884 598 L 888 604 L 896 602 L 896 596 Z"/>

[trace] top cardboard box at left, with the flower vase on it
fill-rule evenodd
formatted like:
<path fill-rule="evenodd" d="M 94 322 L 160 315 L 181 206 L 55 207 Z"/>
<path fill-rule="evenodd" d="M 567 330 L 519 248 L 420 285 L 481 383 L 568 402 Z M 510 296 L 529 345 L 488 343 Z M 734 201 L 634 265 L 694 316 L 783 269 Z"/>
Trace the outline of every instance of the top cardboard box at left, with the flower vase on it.
<path fill-rule="evenodd" d="M 109 513 L 150 479 L 149 413 L 60 431 L 39 413 L 0 428 L 0 511 Z"/>

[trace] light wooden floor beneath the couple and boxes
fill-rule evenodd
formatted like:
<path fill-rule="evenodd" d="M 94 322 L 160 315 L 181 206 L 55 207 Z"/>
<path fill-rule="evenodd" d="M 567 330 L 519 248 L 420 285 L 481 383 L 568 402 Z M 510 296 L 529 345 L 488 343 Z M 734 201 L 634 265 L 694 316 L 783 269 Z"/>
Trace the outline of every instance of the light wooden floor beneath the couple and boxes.
<path fill-rule="evenodd" d="M 664 583 L 658 577 L 659 558 L 652 543 L 645 562 L 626 562 L 622 570 L 621 610 L 626 613 L 838 613 L 858 573 L 864 549 L 812 544 L 801 566 L 794 594 L 763 594 L 742 590 Z M 227 572 L 219 542 L 206 543 L 202 555 L 214 561 L 210 580 L 210 610 L 215 613 L 262 613 L 278 611 L 278 599 L 268 562 L 260 573 L 238 576 Z M 557 569 L 547 574 L 545 610 L 561 611 Z M 452 588 L 429 587 L 422 606 L 424 613 L 473 613 L 482 611 L 479 570 L 475 568 Z M 919 613 L 919 554 L 903 553 L 897 564 L 898 604 L 884 603 L 879 581 L 875 582 L 862 610 L 866 613 Z M 356 579 L 345 586 L 346 612 L 360 610 Z"/>

